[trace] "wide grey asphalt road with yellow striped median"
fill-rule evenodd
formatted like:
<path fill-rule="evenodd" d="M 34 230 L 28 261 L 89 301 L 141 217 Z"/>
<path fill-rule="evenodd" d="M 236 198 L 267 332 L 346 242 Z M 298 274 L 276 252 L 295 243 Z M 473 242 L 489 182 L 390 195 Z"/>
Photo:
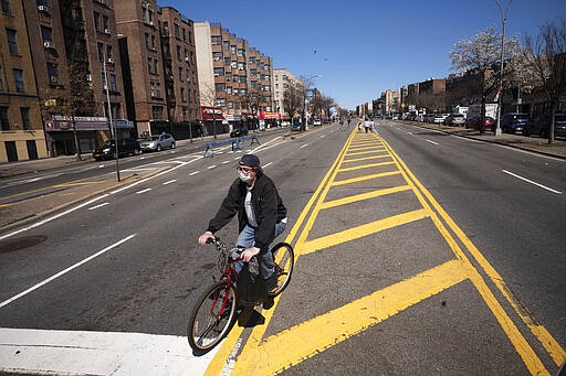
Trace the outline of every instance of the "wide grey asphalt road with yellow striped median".
<path fill-rule="evenodd" d="M 281 240 L 295 246 L 295 275 L 263 324 L 234 326 L 203 368 L 185 342 L 187 374 L 556 372 L 566 345 L 565 162 L 387 121 L 377 130 L 263 140 L 256 152 L 290 213 Z M 182 337 L 219 275 L 197 238 L 240 157 L 178 149 L 160 161 L 167 173 L 20 234 L 21 248 L 0 254 L 0 327 L 46 330 L 41 339 L 55 330 Z M 219 235 L 235 232 L 233 221 Z M 6 345 L 22 332 L 6 333 L 0 369 L 24 367 L 10 353 L 20 347 Z M 554 346 L 541 344 L 548 339 Z M 101 357 L 69 350 L 93 346 L 67 346 L 56 350 L 72 365 L 25 369 L 107 374 Z M 122 373 L 132 372 L 126 355 Z"/>

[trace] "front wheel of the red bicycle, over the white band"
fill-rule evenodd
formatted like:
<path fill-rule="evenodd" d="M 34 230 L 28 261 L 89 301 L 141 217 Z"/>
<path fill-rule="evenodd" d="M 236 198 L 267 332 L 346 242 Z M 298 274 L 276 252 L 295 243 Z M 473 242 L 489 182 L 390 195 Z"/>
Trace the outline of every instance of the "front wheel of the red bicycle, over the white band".
<path fill-rule="evenodd" d="M 199 298 L 187 329 L 193 351 L 207 352 L 222 341 L 234 321 L 235 301 L 235 289 L 227 280 L 216 282 Z"/>

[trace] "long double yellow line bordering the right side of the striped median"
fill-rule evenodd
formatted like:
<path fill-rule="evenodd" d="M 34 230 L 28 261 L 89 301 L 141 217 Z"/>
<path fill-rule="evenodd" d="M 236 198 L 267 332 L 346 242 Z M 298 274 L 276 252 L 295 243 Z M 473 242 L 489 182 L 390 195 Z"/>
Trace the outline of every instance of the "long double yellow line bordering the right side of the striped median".
<path fill-rule="evenodd" d="M 470 280 L 474 284 L 474 287 L 478 290 L 478 292 L 480 293 L 480 296 L 485 301 L 488 308 L 492 311 L 493 315 L 495 316 L 495 319 L 500 323 L 502 330 L 505 332 L 505 334 L 510 339 L 511 343 L 515 347 L 517 354 L 521 356 L 521 358 L 525 363 L 525 365 L 528 368 L 528 370 L 531 372 L 531 374 L 533 374 L 533 375 L 549 375 L 549 373 L 545 368 L 543 362 L 536 355 L 535 351 L 531 347 L 531 345 L 528 344 L 526 339 L 523 336 L 523 334 L 518 331 L 518 329 L 516 327 L 513 320 L 505 312 L 505 310 L 503 309 L 501 303 L 497 301 L 497 299 L 495 298 L 493 292 L 490 290 L 490 288 L 483 280 L 480 272 L 472 266 L 471 261 L 468 259 L 465 254 L 462 251 L 462 249 L 460 248 L 458 243 L 454 240 L 452 235 L 448 232 L 448 229 L 444 227 L 442 222 L 440 222 L 437 213 L 432 211 L 432 208 L 430 207 L 428 202 L 424 200 L 423 195 L 430 201 L 432 206 L 434 206 L 434 210 L 437 210 L 437 212 L 442 216 L 442 218 L 447 222 L 447 224 L 449 224 L 449 226 L 454 232 L 454 234 L 457 234 L 459 239 L 467 246 L 468 250 L 472 254 L 472 256 L 474 256 L 474 258 L 476 258 L 476 256 L 481 256 L 481 258 L 483 259 L 484 262 L 486 262 L 488 265 L 489 265 L 489 262 L 483 258 L 483 256 L 480 254 L 478 248 L 475 248 L 475 246 L 473 246 L 472 241 L 464 235 L 464 233 L 460 229 L 460 227 L 453 222 L 453 219 L 446 213 L 446 211 L 434 200 L 434 197 L 430 194 L 430 192 L 417 180 L 417 178 L 407 168 L 407 165 L 399 158 L 399 155 L 397 155 L 397 153 L 395 153 L 395 151 L 387 144 L 387 142 L 385 140 L 381 140 L 381 141 L 387 146 L 387 148 L 394 155 L 395 160 L 399 163 L 399 168 L 401 169 L 402 174 L 403 174 L 405 179 L 407 180 L 407 182 L 409 184 L 413 185 L 415 194 L 417 195 L 418 200 L 421 202 L 423 207 L 426 207 L 431 213 L 432 222 L 434 223 L 434 225 L 437 226 L 439 232 L 442 234 L 442 236 L 449 244 L 449 246 L 452 249 L 452 251 L 454 253 L 454 255 L 458 257 L 458 259 L 460 259 L 463 262 L 469 265 L 470 270 L 471 270 L 470 271 Z M 473 246 L 473 248 L 475 249 L 478 255 L 474 255 L 474 253 L 469 248 L 470 246 Z M 482 264 L 482 261 L 478 260 L 478 258 L 476 258 L 476 261 L 480 265 Z M 484 268 L 484 270 L 485 270 L 485 267 L 483 265 L 482 265 L 482 268 Z M 491 268 L 491 266 L 490 266 L 490 268 Z M 490 275 L 490 272 L 495 272 L 495 269 L 491 268 L 491 271 L 485 270 L 485 272 L 488 273 L 490 279 L 492 279 L 492 281 L 495 283 L 495 286 L 497 286 L 499 289 L 505 287 L 503 279 L 501 279 L 501 276 L 496 275 L 500 279 L 495 280 L 494 276 Z M 506 299 L 510 299 L 506 293 L 504 293 L 504 296 Z M 513 302 L 511 302 L 511 303 L 512 303 L 512 305 L 515 305 Z M 521 315 L 521 313 L 520 313 L 520 315 Z M 523 316 L 522 316 L 522 319 L 523 319 Z M 528 326 L 528 322 L 526 322 L 526 324 Z M 557 359 L 560 359 L 560 357 L 559 357 L 560 351 L 563 352 L 562 354 L 563 354 L 563 358 L 564 358 L 564 350 L 562 350 L 562 347 L 558 345 L 558 343 L 554 340 L 554 337 L 552 337 L 552 335 L 544 327 L 543 327 L 544 331 L 541 331 L 539 327 L 538 329 L 532 327 L 532 326 L 528 326 L 528 327 L 531 329 L 533 334 L 535 334 L 535 336 L 547 335 L 545 337 L 537 336 L 537 339 L 541 342 L 542 341 L 547 342 L 546 344 L 543 343 L 543 345 L 545 346 L 546 351 L 551 354 L 551 356 L 553 356 L 553 358 L 554 358 L 554 356 L 557 355 Z M 552 343 L 553 341 L 554 341 L 554 344 Z M 556 347 L 556 346 L 558 346 L 558 347 Z M 558 353 L 554 353 L 554 355 L 553 355 L 551 353 L 551 351 L 558 352 Z M 555 362 L 556 362 L 556 359 L 555 359 Z M 557 364 L 559 365 L 562 363 L 557 363 Z"/>

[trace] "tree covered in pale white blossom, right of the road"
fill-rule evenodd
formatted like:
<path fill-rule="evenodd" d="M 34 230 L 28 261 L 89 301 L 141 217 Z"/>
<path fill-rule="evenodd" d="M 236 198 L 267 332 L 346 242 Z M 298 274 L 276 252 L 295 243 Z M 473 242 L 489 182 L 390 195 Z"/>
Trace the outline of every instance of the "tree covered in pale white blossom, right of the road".
<path fill-rule="evenodd" d="M 516 36 L 509 37 L 504 44 L 506 56 L 518 53 L 520 42 Z M 483 135 L 485 133 L 485 101 L 490 94 L 495 93 L 500 82 L 497 64 L 501 61 L 501 34 L 494 28 L 485 29 L 472 39 L 454 44 L 449 56 L 457 75 L 468 73 L 479 79 L 482 104 L 480 133 Z M 509 72 L 507 67 L 503 73 L 504 76 L 509 76 Z M 506 83 L 509 85 L 509 82 Z"/>

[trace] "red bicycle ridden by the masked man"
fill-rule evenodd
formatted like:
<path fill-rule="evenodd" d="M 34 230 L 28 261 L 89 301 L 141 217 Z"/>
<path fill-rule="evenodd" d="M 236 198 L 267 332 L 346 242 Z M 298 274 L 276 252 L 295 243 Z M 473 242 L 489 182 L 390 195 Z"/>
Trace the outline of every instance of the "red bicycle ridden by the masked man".
<path fill-rule="evenodd" d="M 238 290 L 235 280 L 238 272 L 233 264 L 241 261 L 240 255 L 244 248 L 229 248 L 220 238 L 214 237 L 207 240 L 213 244 L 220 253 L 218 268 L 221 272 L 220 279 L 205 291 L 192 308 L 187 327 L 189 345 L 195 352 L 205 353 L 213 348 L 222 339 L 228 335 L 237 316 Z M 293 247 L 286 243 L 279 243 L 271 248 L 277 281 L 269 292 L 269 297 L 279 296 L 291 281 L 295 255 Z"/>

